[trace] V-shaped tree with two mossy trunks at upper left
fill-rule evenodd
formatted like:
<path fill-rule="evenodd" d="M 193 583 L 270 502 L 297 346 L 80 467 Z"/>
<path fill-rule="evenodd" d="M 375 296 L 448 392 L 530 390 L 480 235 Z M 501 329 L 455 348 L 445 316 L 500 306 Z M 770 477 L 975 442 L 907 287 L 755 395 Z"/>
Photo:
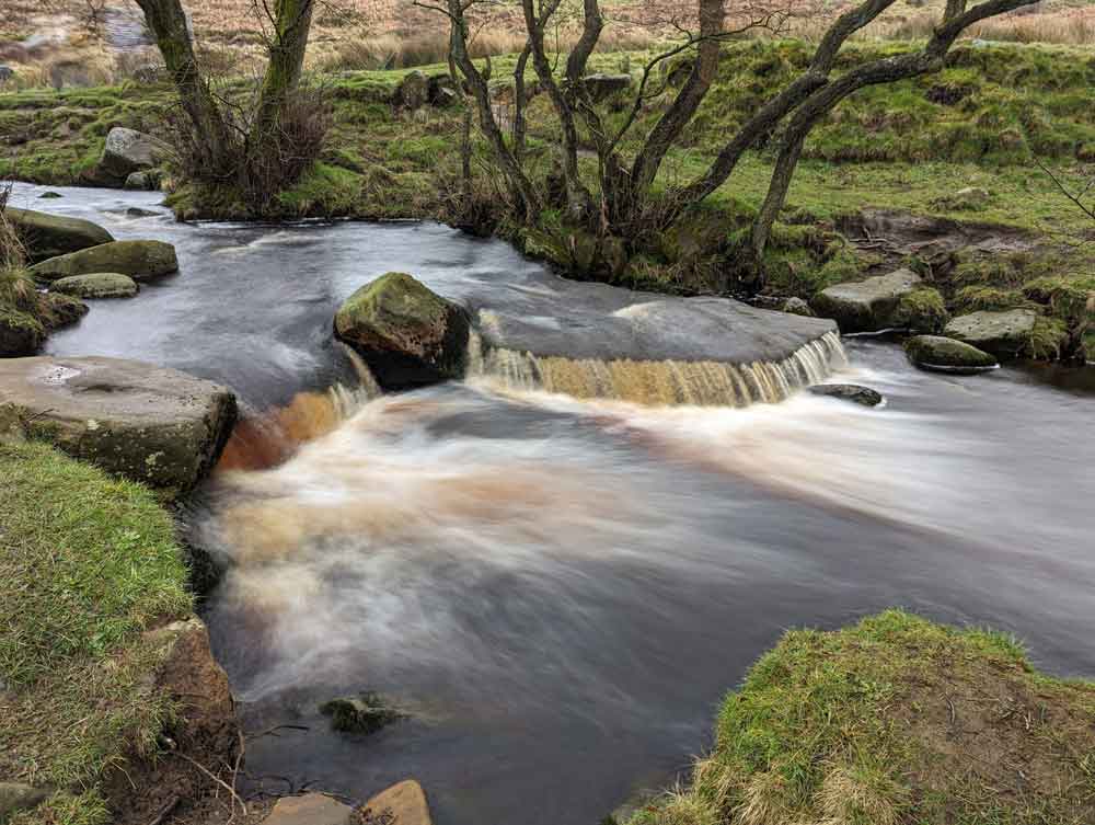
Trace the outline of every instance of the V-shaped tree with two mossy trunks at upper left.
<path fill-rule="evenodd" d="M 315 136 L 302 137 L 293 129 L 300 124 L 292 123 L 314 0 L 275 0 L 273 9 L 266 0 L 256 0 L 269 59 L 253 107 L 242 118 L 235 116 L 239 106 L 216 95 L 203 77 L 181 1 L 137 0 L 137 4 L 189 122 L 187 148 L 195 156 L 191 159 L 195 173 L 207 181 L 237 182 L 262 207 L 272 190 L 292 183 L 319 149 Z M 293 157 L 286 157 L 287 149 Z"/>

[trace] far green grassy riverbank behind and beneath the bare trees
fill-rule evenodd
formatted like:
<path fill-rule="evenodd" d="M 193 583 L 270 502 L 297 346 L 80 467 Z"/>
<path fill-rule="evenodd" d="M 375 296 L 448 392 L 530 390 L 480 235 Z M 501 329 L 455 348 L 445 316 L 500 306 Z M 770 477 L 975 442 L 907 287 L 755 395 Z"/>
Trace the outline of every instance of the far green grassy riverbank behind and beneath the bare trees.
<path fill-rule="evenodd" d="M 846 59 L 901 48 L 855 44 Z M 701 172 L 722 137 L 799 71 L 808 54 L 799 42 L 728 44 L 688 146 L 670 152 L 660 182 Z M 940 75 L 899 83 L 892 94 L 888 87 L 871 89 L 848 101 L 807 141 L 774 230 L 762 297 L 810 299 L 833 284 L 909 266 L 925 276 L 938 293 L 933 300 L 950 314 L 1026 308 L 1052 321 L 1054 334 L 1031 341 L 1027 356 L 1095 357 L 1085 308 L 1095 291 L 1095 252 L 1082 242 L 1092 228 L 1035 165 L 1038 160 L 1068 177 L 1095 157 L 1095 117 L 1086 105 L 1092 54 L 1085 47 L 967 44 Z M 627 73 L 645 56 L 598 54 L 592 69 Z M 494 61 L 503 117 L 512 68 L 512 56 Z M 420 71 L 435 76 L 445 67 Z M 270 216 L 438 219 L 506 238 L 572 277 L 678 294 L 734 291 L 738 248 L 771 171 L 765 149 L 750 153 L 681 229 L 629 240 L 620 259 L 616 245 L 574 231 L 553 210 L 535 227 L 510 225 L 483 175 L 471 206 L 454 197 L 462 112 L 396 105 L 405 76 L 312 76 L 327 91 L 334 126 L 320 162 L 281 193 Z M 171 96 L 166 85 L 136 83 L 0 95 L 7 142 L 19 148 L 18 158 L 0 161 L 0 172 L 51 185 L 93 183 L 106 133 L 115 126 L 157 133 Z M 664 105 L 654 101 L 639 126 L 648 127 Z M 557 130 L 548 102 L 533 99 L 528 119 L 530 156 L 546 163 Z M 487 162 L 477 137 L 473 154 L 476 164 Z M 176 188 L 170 171 L 165 185 L 169 205 L 183 219 L 247 217 L 231 190 Z"/>

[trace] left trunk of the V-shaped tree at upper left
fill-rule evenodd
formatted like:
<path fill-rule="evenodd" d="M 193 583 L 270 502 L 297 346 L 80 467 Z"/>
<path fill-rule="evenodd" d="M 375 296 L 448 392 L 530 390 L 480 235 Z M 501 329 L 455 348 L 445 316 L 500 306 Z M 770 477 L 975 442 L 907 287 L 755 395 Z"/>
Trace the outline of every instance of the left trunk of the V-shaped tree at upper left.
<path fill-rule="evenodd" d="M 186 28 L 180 0 L 137 0 L 155 36 L 168 72 L 175 83 L 183 111 L 194 126 L 196 146 L 205 168 L 215 175 L 232 173 L 231 134 L 209 87 L 198 70 L 194 44 Z"/>

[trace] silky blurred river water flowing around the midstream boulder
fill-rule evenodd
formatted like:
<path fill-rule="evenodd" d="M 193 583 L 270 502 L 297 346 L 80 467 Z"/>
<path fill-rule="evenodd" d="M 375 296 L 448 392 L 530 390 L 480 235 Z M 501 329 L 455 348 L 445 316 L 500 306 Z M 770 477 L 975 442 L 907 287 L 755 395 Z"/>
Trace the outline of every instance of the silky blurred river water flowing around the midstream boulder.
<path fill-rule="evenodd" d="M 330 341 L 354 288 L 404 270 L 516 285 L 525 307 L 552 276 L 438 226 L 180 226 L 125 216 L 150 196 L 64 192 L 49 208 L 170 240 L 183 272 L 50 350 L 188 369 L 252 412 L 192 527 L 232 564 L 206 618 L 249 729 L 292 725 L 249 743 L 268 789 L 364 799 L 413 775 L 438 825 L 592 825 L 710 744 L 783 629 L 894 605 L 1095 675 L 1091 369 L 941 376 L 857 339 L 834 378 L 884 409 L 793 391 L 831 342 L 703 379 L 781 403 L 650 406 L 622 400 L 644 397 L 634 365 L 495 352 L 466 382 L 378 397 Z M 699 379 L 678 379 L 654 398 L 687 400 Z M 360 690 L 410 720 L 330 732 L 316 704 Z"/>

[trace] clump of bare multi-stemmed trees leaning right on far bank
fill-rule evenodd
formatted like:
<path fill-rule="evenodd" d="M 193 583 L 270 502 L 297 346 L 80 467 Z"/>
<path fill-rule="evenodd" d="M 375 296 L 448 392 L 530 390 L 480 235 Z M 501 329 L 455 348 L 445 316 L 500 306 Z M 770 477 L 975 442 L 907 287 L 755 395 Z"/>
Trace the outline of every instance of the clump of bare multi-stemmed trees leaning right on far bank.
<path fill-rule="evenodd" d="M 515 129 L 507 144 L 489 105 L 489 93 L 474 62 L 468 57 L 468 15 L 487 0 L 446 0 L 443 11 L 451 24 L 451 48 L 479 103 L 479 121 L 492 151 L 528 216 L 535 216 L 540 195 L 533 185 L 523 158 L 523 104 L 518 85 L 518 112 L 521 133 Z M 600 39 L 604 16 L 599 0 L 580 0 L 581 34 L 570 50 L 562 72 L 555 70 L 544 45 L 544 35 L 560 0 L 520 0 L 527 34 L 526 53 L 531 57 L 541 88 L 548 93 L 561 124 L 560 167 L 566 188 L 568 219 L 584 224 L 600 236 L 641 237 L 648 229 L 671 225 L 690 206 L 708 197 L 726 183 L 747 150 L 777 127 L 782 133 L 766 196 L 752 225 L 745 254 L 751 261 L 762 285 L 763 253 L 772 225 L 786 199 L 795 168 L 807 136 L 841 101 L 869 85 L 892 83 L 943 68 L 947 51 L 969 26 L 988 18 L 1030 5 L 1037 0 L 983 0 L 969 5 L 967 0 L 947 0 L 932 37 L 922 48 L 907 54 L 868 60 L 833 76 L 838 55 L 849 37 L 869 25 L 897 0 L 863 0 L 841 14 L 826 31 L 809 66 L 793 82 L 761 106 L 738 131 L 730 136 L 708 169 L 694 181 L 661 197 L 652 194 L 654 182 L 671 147 L 692 122 L 707 96 L 721 56 L 721 46 L 729 37 L 750 30 L 781 31 L 794 15 L 794 0 L 780 7 L 764 0 L 734 7 L 734 23 L 727 25 L 725 0 L 696 0 L 695 24 L 688 27 L 680 20 L 673 25 L 679 42 L 653 57 L 644 67 L 623 125 L 610 133 L 587 84 L 584 82 L 589 57 Z M 439 8 L 439 7 L 433 7 Z M 656 99 L 668 92 L 658 69 L 667 61 L 688 55 L 691 69 L 684 83 L 666 106 L 661 116 L 638 144 L 632 158 L 624 157 L 624 137 L 639 123 L 639 115 Z M 528 58 L 522 53 L 523 60 Z M 585 126 L 597 153 L 596 187 L 583 177 L 578 163 L 578 124 Z M 596 191 L 597 198 L 591 192 Z"/>

